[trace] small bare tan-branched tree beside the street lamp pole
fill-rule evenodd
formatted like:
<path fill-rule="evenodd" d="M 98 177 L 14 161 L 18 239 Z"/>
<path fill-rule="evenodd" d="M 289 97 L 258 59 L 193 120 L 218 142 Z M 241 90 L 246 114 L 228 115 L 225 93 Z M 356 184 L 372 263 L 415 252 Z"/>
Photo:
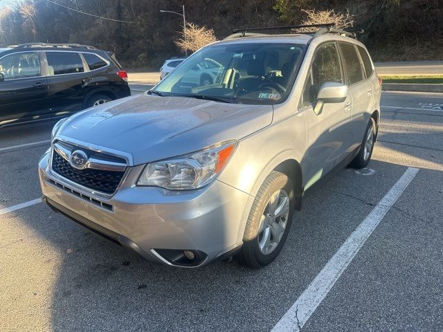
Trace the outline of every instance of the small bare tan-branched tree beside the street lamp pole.
<path fill-rule="evenodd" d="M 199 27 L 197 24 L 186 24 L 186 30 L 181 34 L 183 38 L 177 39 L 175 44 L 184 52 L 190 50 L 195 52 L 205 45 L 216 42 L 214 30 L 206 26 Z"/>

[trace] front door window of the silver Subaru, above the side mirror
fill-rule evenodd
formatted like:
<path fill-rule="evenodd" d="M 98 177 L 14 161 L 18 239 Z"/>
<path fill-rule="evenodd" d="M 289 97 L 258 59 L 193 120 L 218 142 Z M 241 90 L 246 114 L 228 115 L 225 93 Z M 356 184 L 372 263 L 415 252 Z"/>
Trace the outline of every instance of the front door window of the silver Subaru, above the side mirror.
<path fill-rule="evenodd" d="M 334 43 L 317 49 L 302 94 L 302 106 L 316 102 L 320 86 L 326 82 L 343 83 L 340 59 Z"/>

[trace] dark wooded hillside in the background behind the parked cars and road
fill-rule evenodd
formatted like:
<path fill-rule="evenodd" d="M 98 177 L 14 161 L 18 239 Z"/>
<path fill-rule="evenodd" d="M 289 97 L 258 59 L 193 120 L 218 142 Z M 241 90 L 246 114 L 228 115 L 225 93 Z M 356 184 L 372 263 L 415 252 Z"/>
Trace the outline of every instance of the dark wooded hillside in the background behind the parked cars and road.
<path fill-rule="evenodd" d="M 183 18 L 159 12 L 182 4 L 186 21 L 217 39 L 244 26 L 332 19 L 363 28 L 377 61 L 443 59 L 442 0 L 25 0 L 0 9 L 0 44 L 89 44 L 127 67 L 158 68 L 188 47 Z"/>

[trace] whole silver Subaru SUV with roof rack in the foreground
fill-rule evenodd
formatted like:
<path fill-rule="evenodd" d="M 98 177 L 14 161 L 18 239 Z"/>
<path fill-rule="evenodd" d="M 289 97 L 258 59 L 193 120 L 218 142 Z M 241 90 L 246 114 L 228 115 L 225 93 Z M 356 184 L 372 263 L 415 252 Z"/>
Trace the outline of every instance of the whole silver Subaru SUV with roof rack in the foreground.
<path fill-rule="evenodd" d="M 57 122 L 44 201 L 149 261 L 266 266 L 303 196 L 371 158 L 381 80 L 349 35 L 237 33 L 147 93 Z"/>

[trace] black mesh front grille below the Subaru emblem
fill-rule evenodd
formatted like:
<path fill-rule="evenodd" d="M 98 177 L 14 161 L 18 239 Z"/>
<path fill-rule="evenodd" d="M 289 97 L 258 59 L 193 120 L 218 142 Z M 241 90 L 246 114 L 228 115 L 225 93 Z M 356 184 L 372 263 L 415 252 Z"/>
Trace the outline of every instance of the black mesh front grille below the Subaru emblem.
<path fill-rule="evenodd" d="M 55 150 L 53 151 L 53 171 L 79 185 L 104 194 L 113 194 L 125 174 L 125 172 L 91 168 L 75 169 Z"/>

